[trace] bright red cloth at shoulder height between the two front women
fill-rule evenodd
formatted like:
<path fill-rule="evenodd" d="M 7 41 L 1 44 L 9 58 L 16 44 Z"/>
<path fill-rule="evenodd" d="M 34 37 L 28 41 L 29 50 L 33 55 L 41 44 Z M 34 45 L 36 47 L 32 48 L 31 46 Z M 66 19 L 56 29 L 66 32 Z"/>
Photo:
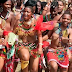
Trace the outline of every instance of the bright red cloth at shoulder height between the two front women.
<path fill-rule="evenodd" d="M 43 22 L 43 16 L 41 15 L 36 22 L 35 30 L 52 30 L 55 23 L 56 21 Z"/>

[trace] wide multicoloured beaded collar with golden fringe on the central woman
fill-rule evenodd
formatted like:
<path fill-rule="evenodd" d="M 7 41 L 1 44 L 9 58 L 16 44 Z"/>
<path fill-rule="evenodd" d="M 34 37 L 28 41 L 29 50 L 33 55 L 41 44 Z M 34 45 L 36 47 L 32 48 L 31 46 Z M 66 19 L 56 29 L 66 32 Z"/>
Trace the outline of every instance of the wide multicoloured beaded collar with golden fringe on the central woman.
<path fill-rule="evenodd" d="M 32 22 L 31 22 L 31 24 L 32 24 Z M 18 33 L 20 33 L 21 35 L 24 35 L 24 36 L 31 35 L 34 33 L 34 27 L 35 27 L 35 25 L 33 27 L 31 27 L 31 24 L 25 26 L 24 22 L 21 22 L 17 26 L 16 30 L 18 30 Z"/>

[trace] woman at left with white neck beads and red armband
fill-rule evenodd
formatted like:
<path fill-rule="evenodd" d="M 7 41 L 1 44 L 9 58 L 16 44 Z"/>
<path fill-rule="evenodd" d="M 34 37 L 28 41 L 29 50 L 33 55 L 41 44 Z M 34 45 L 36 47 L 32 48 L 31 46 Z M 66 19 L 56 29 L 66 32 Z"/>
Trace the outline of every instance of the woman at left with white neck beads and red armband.
<path fill-rule="evenodd" d="M 11 0 L 0 0 L 0 3 L 1 3 L 1 7 L 3 9 L 1 11 L 0 18 L 1 18 L 1 22 L 2 22 L 1 25 L 2 25 L 2 30 L 3 30 L 3 36 L 5 38 L 4 45 L 7 46 L 7 50 L 9 50 L 7 42 L 6 42 L 7 35 L 9 32 L 11 32 L 13 30 L 13 27 L 15 24 L 15 17 L 14 17 L 13 12 L 11 12 Z M 11 64 L 10 66 L 12 67 L 12 59 L 10 59 L 10 61 L 6 59 L 5 61 L 6 61 L 6 64 L 9 63 L 9 65 Z M 8 68 L 8 67 L 6 66 L 6 68 Z M 8 69 L 10 69 L 10 67 Z M 8 72 L 8 69 L 7 69 L 7 72 Z M 11 72 L 12 71 L 13 71 L 13 68 L 12 68 Z"/>

